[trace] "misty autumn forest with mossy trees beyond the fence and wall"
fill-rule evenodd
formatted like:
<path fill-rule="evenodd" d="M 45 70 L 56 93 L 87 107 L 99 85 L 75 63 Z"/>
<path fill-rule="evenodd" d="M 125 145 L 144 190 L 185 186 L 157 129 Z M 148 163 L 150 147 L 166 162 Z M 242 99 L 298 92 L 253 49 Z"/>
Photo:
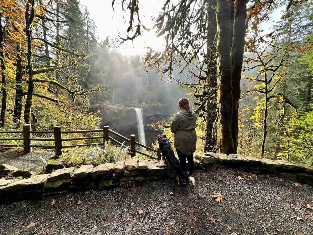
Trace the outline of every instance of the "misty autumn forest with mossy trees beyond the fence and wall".
<path fill-rule="evenodd" d="M 95 129 L 92 105 L 174 114 L 185 96 L 198 115 L 197 152 L 313 165 L 312 0 L 166 0 L 152 29 L 141 4 L 108 4 L 123 12 L 125 29 L 99 40 L 78 0 L 1 1 L 0 129 Z M 115 50 L 146 31 L 163 51 Z M 168 124 L 151 126 L 170 136 Z"/>

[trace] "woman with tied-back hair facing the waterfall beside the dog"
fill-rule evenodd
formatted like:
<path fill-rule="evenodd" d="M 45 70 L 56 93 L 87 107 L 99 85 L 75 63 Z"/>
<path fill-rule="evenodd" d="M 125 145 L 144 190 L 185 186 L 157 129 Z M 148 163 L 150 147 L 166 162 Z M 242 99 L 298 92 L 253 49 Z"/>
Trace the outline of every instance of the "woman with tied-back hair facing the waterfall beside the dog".
<path fill-rule="evenodd" d="M 196 114 L 190 110 L 189 101 L 181 98 L 178 101 L 179 112 L 172 120 L 171 132 L 174 133 L 174 146 L 177 151 L 182 170 L 186 171 L 186 159 L 188 160 L 189 175 L 193 172 L 193 153 L 196 151 Z"/>

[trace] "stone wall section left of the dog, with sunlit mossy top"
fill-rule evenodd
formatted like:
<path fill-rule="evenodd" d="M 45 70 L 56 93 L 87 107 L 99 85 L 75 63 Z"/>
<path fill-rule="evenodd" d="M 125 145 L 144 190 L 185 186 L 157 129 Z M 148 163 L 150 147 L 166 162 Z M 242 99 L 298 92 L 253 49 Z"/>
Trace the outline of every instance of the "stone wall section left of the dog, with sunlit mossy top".
<path fill-rule="evenodd" d="M 15 170 L 15 168 L 11 170 Z M 7 173 L 9 174 L 9 172 Z M 0 179 L 0 198 L 3 203 L 63 196 L 71 191 L 119 186 L 126 188 L 146 180 L 163 179 L 165 175 L 166 166 L 163 161 L 140 161 L 134 158 L 116 164 L 101 164 L 96 167 L 82 165 L 80 168 L 58 169 L 50 174 L 35 175 L 26 179 L 10 179 L 8 177 L 8 179 Z"/>

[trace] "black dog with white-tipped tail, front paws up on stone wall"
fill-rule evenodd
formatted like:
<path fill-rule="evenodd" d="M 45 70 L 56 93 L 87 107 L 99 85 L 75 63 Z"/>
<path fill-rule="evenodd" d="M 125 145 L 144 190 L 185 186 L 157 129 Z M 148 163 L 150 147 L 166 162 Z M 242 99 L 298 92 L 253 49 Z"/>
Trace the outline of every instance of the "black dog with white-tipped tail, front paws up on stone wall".
<path fill-rule="evenodd" d="M 179 161 L 175 157 L 174 151 L 171 147 L 171 142 L 166 138 L 166 135 L 158 135 L 156 139 L 159 143 L 159 148 L 161 150 L 164 162 L 168 166 L 168 175 L 173 182 L 173 191 L 175 191 L 177 176 L 180 185 L 184 183 L 184 180 L 187 180 L 191 182 L 193 186 L 195 186 L 195 179 L 182 170 Z"/>

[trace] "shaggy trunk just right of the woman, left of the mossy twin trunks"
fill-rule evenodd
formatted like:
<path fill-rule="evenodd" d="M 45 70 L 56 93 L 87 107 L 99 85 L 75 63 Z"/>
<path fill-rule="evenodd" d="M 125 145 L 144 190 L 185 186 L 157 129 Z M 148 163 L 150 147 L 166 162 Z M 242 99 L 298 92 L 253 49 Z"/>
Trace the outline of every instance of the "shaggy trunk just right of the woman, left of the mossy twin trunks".
<path fill-rule="evenodd" d="M 217 86 L 217 52 L 216 52 L 216 0 L 208 0 L 208 19 L 207 19 L 207 80 L 206 83 L 211 86 Z M 208 93 L 213 91 L 208 90 Z M 215 122 L 217 119 L 217 93 L 206 103 L 206 127 L 205 127 L 205 145 L 204 152 L 216 152 L 217 138 Z"/>

